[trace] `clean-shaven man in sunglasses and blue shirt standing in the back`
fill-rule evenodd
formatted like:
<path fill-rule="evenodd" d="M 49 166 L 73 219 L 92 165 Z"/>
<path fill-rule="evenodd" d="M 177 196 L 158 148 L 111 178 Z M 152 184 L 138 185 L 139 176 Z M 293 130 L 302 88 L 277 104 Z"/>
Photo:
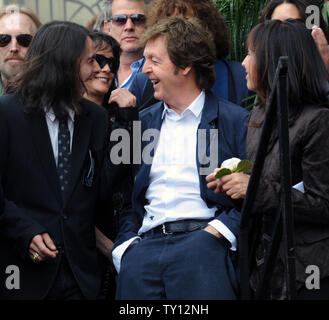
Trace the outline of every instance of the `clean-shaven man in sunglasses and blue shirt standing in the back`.
<path fill-rule="evenodd" d="M 119 43 L 122 50 L 117 87 L 129 89 L 134 76 L 141 72 L 144 59 L 139 39 L 146 27 L 149 0 L 113 0 L 110 21 L 104 22 L 104 32 Z"/>

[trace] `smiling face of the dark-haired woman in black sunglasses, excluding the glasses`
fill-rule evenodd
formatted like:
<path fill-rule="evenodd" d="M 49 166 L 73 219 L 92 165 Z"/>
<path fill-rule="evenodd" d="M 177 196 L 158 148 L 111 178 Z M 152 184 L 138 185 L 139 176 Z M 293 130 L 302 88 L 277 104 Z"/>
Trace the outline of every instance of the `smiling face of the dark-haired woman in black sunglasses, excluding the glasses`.
<path fill-rule="evenodd" d="M 96 51 L 96 54 L 101 54 L 106 58 L 112 58 L 113 53 L 110 46 L 102 46 L 102 48 Z M 85 86 L 88 91 L 88 96 L 99 97 L 99 101 L 102 101 L 104 95 L 109 91 L 114 79 L 114 73 L 106 64 L 99 72 L 85 82 Z"/>

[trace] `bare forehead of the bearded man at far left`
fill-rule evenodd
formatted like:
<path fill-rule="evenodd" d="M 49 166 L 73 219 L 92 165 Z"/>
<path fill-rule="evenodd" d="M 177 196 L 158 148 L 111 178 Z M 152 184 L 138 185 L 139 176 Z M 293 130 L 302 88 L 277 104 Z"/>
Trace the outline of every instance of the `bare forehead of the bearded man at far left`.
<path fill-rule="evenodd" d="M 0 18 L 1 33 L 28 33 L 34 34 L 36 26 L 34 22 L 22 13 L 6 14 Z"/>

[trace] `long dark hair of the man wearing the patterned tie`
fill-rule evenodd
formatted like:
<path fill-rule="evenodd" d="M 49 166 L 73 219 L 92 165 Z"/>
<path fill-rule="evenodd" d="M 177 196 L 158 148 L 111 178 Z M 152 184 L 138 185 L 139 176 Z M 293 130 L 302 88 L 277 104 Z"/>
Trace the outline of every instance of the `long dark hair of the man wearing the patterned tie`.
<path fill-rule="evenodd" d="M 83 82 L 80 60 L 88 30 L 67 21 L 43 25 L 35 34 L 19 80 L 10 91 L 21 94 L 25 112 L 53 109 L 56 117 L 67 115 L 67 108 L 79 113 Z"/>

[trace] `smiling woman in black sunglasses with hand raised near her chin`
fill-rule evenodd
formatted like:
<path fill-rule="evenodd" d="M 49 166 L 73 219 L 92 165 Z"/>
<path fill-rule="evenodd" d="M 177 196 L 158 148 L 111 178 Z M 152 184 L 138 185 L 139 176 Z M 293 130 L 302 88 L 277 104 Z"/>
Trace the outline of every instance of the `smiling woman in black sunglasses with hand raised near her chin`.
<path fill-rule="evenodd" d="M 116 89 L 115 86 L 121 54 L 119 43 L 102 32 L 93 32 L 90 37 L 95 43 L 96 61 L 101 71 L 85 82 L 84 97 L 105 107 L 113 117 L 117 107 L 134 107 L 136 98 L 127 89 Z"/>

